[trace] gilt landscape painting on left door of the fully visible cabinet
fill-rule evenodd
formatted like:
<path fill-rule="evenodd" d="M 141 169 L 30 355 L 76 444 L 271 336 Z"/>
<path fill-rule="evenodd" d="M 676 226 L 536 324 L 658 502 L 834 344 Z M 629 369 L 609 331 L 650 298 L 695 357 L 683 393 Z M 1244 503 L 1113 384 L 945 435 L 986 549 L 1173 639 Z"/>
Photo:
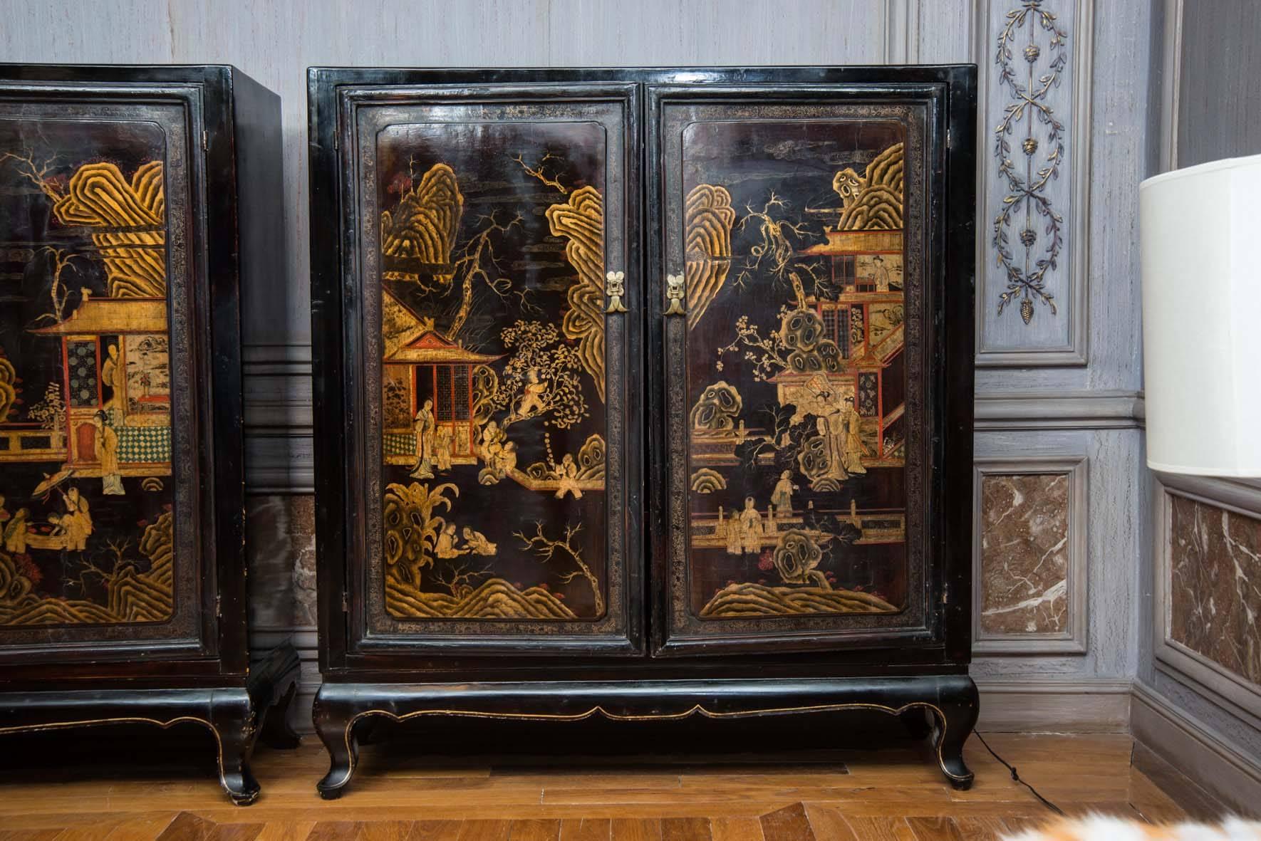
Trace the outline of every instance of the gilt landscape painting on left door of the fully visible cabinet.
<path fill-rule="evenodd" d="M 576 121 L 376 135 L 392 619 L 605 614 L 604 145 Z"/>

